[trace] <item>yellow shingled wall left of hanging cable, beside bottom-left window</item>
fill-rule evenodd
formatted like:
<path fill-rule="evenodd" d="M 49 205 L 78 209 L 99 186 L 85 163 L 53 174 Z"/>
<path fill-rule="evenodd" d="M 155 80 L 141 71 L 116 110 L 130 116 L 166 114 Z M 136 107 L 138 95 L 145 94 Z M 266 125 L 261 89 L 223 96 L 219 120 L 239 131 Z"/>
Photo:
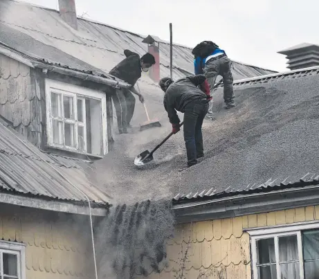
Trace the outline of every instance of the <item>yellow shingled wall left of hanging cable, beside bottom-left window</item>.
<path fill-rule="evenodd" d="M 26 244 L 27 279 L 93 278 L 89 231 L 87 216 L 0 206 L 0 238 Z"/>

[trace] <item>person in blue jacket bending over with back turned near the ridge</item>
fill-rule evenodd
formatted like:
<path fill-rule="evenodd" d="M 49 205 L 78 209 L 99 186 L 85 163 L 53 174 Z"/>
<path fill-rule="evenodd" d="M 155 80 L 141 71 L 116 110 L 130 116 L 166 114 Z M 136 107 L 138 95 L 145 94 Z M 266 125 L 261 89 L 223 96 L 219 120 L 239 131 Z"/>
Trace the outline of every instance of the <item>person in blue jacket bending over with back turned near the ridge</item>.
<path fill-rule="evenodd" d="M 217 44 L 204 41 L 192 50 L 192 54 L 194 54 L 195 75 L 203 74 L 206 76 L 210 86 L 210 94 L 212 95 L 217 76 L 221 75 L 224 83 L 225 108 L 230 109 L 235 107 L 234 80 L 230 69 L 231 61 L 227 57 L 226 52 L 219 48 Z M 208 114 L 212 114 L 212 101 L 210 102 Z"/>

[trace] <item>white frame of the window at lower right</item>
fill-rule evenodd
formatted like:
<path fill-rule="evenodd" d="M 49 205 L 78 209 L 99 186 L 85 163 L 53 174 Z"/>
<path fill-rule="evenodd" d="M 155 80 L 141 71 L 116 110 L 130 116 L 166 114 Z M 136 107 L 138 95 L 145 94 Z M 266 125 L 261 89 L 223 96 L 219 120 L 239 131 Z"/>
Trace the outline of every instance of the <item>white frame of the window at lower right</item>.
<path fill-rule="evenodd" d="M 258 278 L 257 269 L 257 240 L 264 240 L 268 238 L 273 238 L 275 242 L 275 256 L 276 256 L 276 269 L 277 269 L 277 279 L 280 279 L 280 264 L 279 264 L 279 247 L 278 247 L 278 237 L 297 235 L 297 245 L 298 245 L 298 260 L 300 264 L 300 279 L 304 279 L 304 258 L 302 251 L 302 231 L 309 231 L 313 229 L 319 229 L 319 222 L 301 222 L 296 224 L 286 224 L 282 226 L 273 226 L 271 228 L 252 228 L 246 230 L 250 235 L 250 246 L 251 246 L 251 260 L 253 264 L 253 277 L 252 279 Z"/>

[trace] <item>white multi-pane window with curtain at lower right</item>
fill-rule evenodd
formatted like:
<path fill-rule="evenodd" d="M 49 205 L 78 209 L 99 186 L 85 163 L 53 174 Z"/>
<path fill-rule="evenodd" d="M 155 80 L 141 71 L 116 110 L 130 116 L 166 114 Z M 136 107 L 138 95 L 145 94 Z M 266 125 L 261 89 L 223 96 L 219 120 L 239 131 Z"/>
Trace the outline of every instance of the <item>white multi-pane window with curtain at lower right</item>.
<path fill-rule="evenodd" d="M 319 278 L 318 223 L 248 233 L 251 235 L 253 279 Z"/>

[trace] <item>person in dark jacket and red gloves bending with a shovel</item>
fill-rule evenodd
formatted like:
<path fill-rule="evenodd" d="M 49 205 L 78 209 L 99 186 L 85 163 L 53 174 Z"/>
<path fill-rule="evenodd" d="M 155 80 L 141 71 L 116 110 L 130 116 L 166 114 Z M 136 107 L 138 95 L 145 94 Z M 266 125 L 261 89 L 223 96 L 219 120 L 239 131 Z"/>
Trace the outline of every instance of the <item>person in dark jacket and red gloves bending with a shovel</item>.
<path fill-rule="evenodd" d="M 176 111 L 184 113 L 183 129 L 188 167 L 195 165 L 197 159 L 204 155 L 201 126 L 208 111 L 208 102 L 212 99 L 206 77 L 194 75 L 176 82 L 171 78 L 162 78 L 159 85 L 165 92 L 164 107 L 174 134 L 179 132 L 181 122 Z"/>

